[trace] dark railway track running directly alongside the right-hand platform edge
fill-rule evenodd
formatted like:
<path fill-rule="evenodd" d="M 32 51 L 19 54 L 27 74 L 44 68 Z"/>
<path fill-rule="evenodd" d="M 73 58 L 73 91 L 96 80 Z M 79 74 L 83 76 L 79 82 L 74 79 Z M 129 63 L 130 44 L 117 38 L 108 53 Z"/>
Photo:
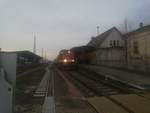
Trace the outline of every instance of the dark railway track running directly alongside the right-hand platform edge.
<path fill-rule="evenodd" d="M 148 91 L 141 90 L 141 88 L 138 89 L 138 87 L 130 86 L 129 84 L 122 83 L 120 81 L 115 81 L 110 78 L 105 78 L 103 75 L 99 75 L 91 70 L 82 69 L 78 71 L 81 75 L 85 75 L 89 79 L 100 81 L 108 86 L 110 86 L 113 89 L 120 90 L 123 94 L 136 94 L 137 96 L 140 96 L 142 98 L 150 100 L 149 97 L 145 97 L 143 94 L 148 93 Z"/>

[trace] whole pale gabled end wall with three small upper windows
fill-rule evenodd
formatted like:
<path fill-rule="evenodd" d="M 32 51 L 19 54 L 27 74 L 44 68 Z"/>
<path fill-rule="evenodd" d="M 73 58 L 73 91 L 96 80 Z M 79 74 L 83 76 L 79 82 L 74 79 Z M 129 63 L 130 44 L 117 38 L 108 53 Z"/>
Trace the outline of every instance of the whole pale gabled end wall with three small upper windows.
<path fill-rule="evenodd" d="M 115 44 L 114 44 L 115 41 Z M 92 64 L 120 67 L 125 64 L 125 41 L 123 36 L 113 30 L 108 37 L 97 47 Z"/>

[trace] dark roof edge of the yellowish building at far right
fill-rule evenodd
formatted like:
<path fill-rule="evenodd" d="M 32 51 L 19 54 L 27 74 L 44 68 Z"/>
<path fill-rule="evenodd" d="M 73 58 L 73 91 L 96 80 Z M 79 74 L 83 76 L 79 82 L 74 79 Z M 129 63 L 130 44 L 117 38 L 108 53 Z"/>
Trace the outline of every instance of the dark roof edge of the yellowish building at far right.
<path fill-rule="evenodd" d="M 126 36 L 129 36 L 129 35 L 133 35 L 133 34 L 141 33 L 141 32 L 146 32 L 146 31 L 150 31 L 150 25 L 147 25 L 147 26 L 138 28 L 138 29 L 136 29 L 136 30 L 133 30 L 133 31 L 131 31 L 131 32 L 128 32 L 128 33 L 125 34 L 125 35 L 126 35 Z"/>

